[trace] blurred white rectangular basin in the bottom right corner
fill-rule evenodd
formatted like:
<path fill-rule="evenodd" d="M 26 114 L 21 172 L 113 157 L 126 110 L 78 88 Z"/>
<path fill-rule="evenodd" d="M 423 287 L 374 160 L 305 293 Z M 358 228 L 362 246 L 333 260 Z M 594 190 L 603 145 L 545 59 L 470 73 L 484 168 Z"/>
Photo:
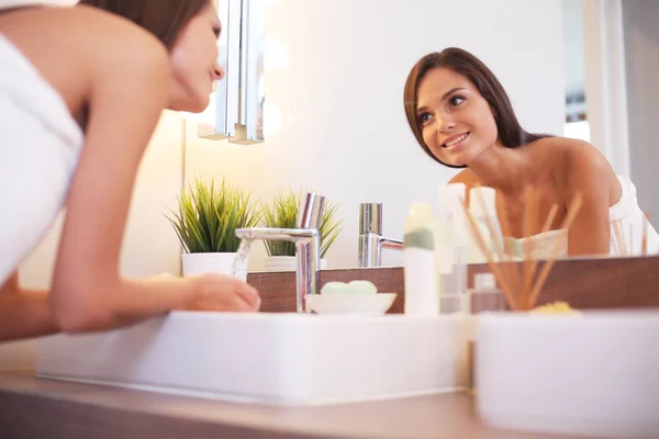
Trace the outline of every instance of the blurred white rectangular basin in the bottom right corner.
<path fill-rule="evenodd" d="M 476 392 L 490 424 L 659 438 L 659 312 L 483 313 Z"/>

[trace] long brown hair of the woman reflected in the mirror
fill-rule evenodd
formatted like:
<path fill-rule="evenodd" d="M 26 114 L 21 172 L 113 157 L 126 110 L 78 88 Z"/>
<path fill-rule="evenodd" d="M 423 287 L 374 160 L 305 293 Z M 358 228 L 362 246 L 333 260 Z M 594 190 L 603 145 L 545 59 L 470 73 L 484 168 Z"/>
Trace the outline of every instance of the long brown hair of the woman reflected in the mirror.
<path fill-rule="evenodd" d="M 546 134 L 532 134 L 526 132 L 520 125 L 517 116 L 513 111 L 513 105 L 509 99 L 501 82 L 494 74 L 480 59 L 471 55 L 467 50 L 457 47 L 448 47 L 442 52 L 434 52 L 421 58 L 407 75 L 405 89 L 403 92 L 405 115 L 407 123 L 416 137 L 416 142 L 436 161 L 450 168 L 466 168 L 467 166 L 455 166 L 445 164 L 439 160 L 431 151 L 431 148 L 423 140 L 421 124 L 416 115 L 416 106 L 418 102 L 418 85 L 425 78 L 426 74 L 436 68 L 447 68 L 458 75 L 467 78 L 479 91 L 479 93 L 488 101 L 493 110 L 499 133 L 499 142 L 509 148 L 516 148 L 533 140 L 543 137 L 549 137 Z"/>

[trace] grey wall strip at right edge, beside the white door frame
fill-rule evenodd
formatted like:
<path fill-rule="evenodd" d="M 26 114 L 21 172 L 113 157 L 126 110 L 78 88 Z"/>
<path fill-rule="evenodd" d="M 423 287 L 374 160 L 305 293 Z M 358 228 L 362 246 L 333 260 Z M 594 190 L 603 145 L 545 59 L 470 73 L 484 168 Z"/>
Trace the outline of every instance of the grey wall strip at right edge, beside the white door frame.
<path fill-rule="evenodd" d="M 623 1 L 629 159 L 641 209 L 659 217 L 659 2 Z"/>

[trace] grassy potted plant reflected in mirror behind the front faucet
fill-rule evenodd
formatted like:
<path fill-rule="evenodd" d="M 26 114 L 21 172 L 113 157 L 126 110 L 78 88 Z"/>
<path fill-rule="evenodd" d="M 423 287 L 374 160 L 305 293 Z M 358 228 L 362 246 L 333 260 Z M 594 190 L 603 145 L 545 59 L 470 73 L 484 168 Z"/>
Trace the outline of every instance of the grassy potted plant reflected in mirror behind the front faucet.
<path fill-rule="evenodd" d="M 261 206 L 264 227 L 295 228 L 298 209 L 302 192 L 280 192 L 270 202 Z M 325 254 L 345 227 L 345 219 L 338 218 L 337 203 L 325 202 L 325 209 L 319 232 L 321 234 L 321 269 L 327 268 Z M 295 270 L 295 244 L 282 240 L 264 240 L 268 256 L 266 271 L 293 271 Z"/>

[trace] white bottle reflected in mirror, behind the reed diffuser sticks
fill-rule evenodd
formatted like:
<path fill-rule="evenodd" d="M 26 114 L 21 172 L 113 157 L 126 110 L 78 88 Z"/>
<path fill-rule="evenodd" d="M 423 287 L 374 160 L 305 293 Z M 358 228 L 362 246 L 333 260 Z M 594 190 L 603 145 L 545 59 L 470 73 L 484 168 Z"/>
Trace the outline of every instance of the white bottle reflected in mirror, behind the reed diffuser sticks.
<path fill-rule="evenodd" d="M 501 226 L 499 224 L 499 217 L 496 216 L 496 191 L 493 188 L 479 187 L 472 188 L 469 191 L 469 212 L 476 219 L 477 226 L 480 230 L 480 235 L 484 240 L 485 246 L 490 249 L 492 258 L 496 261 L 496 243 L 503 248 L 503 237 L 501 234 Z M 489 223 L 492 223 L 494 235 L 490 234 Z M 471 225 L 467 225 L 469 230 L 469 244 L 468 244 L 468 259 L 469 263 L 485 263 L 488 257 L 482 252 Z"/>

